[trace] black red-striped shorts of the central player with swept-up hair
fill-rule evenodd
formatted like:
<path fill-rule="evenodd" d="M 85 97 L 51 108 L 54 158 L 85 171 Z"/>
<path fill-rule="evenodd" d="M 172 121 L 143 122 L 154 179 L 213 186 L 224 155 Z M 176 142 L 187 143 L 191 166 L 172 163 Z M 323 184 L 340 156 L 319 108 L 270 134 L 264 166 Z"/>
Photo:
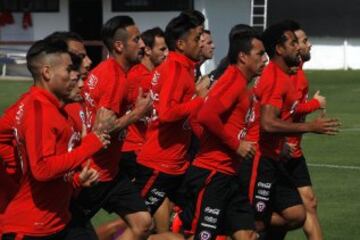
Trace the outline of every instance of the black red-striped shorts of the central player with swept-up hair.
<path fill-rule="evenodd" d="M 161 206 L 166 197 L 180 205 L 178 189 L 184 175 L 171 175 L 138 164 L 135 185 L 139 189 L 151 215 Z"/>

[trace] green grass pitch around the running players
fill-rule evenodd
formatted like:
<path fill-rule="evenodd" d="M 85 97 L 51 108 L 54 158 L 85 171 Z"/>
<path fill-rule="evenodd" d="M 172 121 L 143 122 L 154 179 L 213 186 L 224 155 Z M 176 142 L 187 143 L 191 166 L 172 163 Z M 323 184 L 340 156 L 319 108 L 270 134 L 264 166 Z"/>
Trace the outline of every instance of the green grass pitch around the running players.
<path fill-rule="evenodd" d="M 327 240 L 360 238 L 360 71 L 309 71 L 311 93 L 321 90 L 328 102 L 327 114 L 342 122 L 334 137 L 308 134 L 304 151 L 319 200 L 318 212 Z M 0 82 L 0 112 L 31 83 Z M 109 216 L 101 212 L 98 225 Z M 306 239 L 302 231 L 286 239 Z"/>

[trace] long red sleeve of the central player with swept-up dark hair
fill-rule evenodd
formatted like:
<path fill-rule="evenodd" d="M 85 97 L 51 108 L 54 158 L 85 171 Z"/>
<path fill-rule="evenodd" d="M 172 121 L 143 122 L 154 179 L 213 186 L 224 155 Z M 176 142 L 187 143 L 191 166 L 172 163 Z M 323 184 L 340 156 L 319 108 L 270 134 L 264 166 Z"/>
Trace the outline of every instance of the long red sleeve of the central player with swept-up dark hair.
<path fill-rule="evenodd" d="M 191 111 L 203 102 L 201 97 L 194 97 L 186 102 L 183 101 L 184 95 L 191 89 L 187 86 L 187 81 L 181 79 L 184 74 L 181 74 L 180 64 L 175 63 L 171 69 L 174 69 L 174 72 L 163 74 L 165 72 L 163 71 L 161 73 L 163 82 L 157 109 L 159 121 L 161 122 L 175 122 L 187 118 Z"/>

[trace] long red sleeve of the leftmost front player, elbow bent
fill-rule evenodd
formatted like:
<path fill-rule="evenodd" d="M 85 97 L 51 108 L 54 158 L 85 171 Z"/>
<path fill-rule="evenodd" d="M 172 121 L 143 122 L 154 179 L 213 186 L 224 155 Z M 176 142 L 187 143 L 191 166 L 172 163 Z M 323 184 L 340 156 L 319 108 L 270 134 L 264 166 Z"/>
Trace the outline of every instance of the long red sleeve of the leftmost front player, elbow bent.
<path fill-rule="evenodd" d="M 33 176 L 48 181 L 75 169 L 102 148 L 93 133 L 86 135 L 81 145 L 71 152 L 56 154 L 57 135 L 53 119 L 45 116 L 43 106 L 35 101 L 32 111 L 24 119 L 24 138 Z"/>

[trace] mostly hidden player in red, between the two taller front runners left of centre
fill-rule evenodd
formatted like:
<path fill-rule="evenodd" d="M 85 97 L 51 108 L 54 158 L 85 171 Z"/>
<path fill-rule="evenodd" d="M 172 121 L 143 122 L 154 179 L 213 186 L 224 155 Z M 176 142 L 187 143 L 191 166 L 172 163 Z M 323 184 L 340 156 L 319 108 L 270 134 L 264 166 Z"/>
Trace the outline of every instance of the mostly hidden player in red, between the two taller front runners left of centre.
<path fill-rule="evenodd" d="M 147 93 L 150 89 L 150 82 L 153 76 L 153 71 L 159 66 L 168 55 L 168 48 L 165 42 L 164 32 L 155 27 L 144 31 L 141 34 L 141 39 L 144 41 L 144 56 L 141 59 L 141 63 L 131 67 L 127 74 L 128 79 L 128 109 L 134 107 L 136 98 L 138 96 L 139 88 L 141 87 L 143 92 Z M 131 180 L 134 179 L 137 169 L 136 155 L 141 150 L 142 145 L 145 142 L 145 133 L 147 128 L 148 119 L 144 117 L 140 121 L 130 125 L 127 128 L 127 134 L 122 145 L 120 169 L 124 171 Z M 170 216 L 169 211 L 165 211 L 166 215 Z M 161 216 L 161 220 L 164 219 L 166 226 L 168 225 L 168 218 Z M 159 231 L 159 223 L 156 223 L 157 231 Z M 166 228 L 162 227 L 162 228 Z M 100 239 L 112 239 L 112 236 L 118 232 L 123 232 L 126 228 L 126 224 L 121 219 L 106 223 L 97 228 L 97 233 Z"/>

